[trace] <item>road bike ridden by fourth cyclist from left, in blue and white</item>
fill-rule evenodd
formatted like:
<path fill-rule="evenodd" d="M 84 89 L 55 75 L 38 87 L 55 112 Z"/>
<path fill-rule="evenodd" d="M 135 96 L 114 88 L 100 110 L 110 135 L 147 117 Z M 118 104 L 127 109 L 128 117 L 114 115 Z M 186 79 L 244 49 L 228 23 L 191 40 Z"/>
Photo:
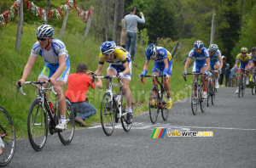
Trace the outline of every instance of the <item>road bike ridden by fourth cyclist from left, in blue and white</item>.
<path fill-rule="evenodd" d="M 201 106 L 201 112 L 204 113 L 207 106 L 207 98 L 202 98 L 202 81 L 201 81 L 201 75 L 202 73 L 188 73 L 187 75 L 195 75 L 195 81 L 193 82 L 192 86 L 192 92 L 191 92 L 191 108 L 193 115 L 196 115 L 198 106 L 200 104 Z M 184 76 L 183 76 L 184 77 Z M 187 81 L 186 77 L 184 77 L 184 80 Z"/>

